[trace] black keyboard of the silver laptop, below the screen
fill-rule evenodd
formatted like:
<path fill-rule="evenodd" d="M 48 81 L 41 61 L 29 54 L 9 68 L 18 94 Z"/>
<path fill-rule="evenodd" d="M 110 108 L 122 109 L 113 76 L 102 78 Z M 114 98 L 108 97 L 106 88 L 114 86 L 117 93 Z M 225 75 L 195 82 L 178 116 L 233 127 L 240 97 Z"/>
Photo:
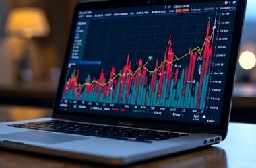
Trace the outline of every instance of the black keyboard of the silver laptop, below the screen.
<path fill-rule="evenodd" d="M 50 132 L 61 132 L 66 134 L 77 134 L 84 136 L 97 136 L 102 138 L 113 138 L 118 140 L 131 140 L 139 142 L 152 142 L 153 140 L 166 140 L 187 134 L 176 132 L 161 132 L 155 130 L 141 130 L 135 128 L 106 126 L 98 124 L 86 124 L 77 122 L 67 122 L 51 120 L 47 122 L 30 122 L 25 124 L 12 124 L 18 128 L 28 128 L 34 130 L 44 130 Z"/>

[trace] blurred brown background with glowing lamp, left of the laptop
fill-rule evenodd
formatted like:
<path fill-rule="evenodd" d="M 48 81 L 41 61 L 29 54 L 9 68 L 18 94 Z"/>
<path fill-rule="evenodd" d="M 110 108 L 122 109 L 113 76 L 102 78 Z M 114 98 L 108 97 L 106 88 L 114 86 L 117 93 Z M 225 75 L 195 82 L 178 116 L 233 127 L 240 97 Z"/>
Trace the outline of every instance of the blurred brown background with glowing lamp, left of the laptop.
<path fill-rule="evenodd" d="M 0 0 L 1 103 L 53 105 L 77 2 Z"/>

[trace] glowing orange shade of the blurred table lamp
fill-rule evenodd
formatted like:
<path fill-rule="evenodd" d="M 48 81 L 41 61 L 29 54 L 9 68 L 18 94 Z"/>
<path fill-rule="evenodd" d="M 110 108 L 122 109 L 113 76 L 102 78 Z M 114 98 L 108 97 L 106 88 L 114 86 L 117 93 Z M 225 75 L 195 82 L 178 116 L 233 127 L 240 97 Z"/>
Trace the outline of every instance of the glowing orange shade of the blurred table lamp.
<path fill-rule="evenodd" d="M 50 27 L 42 9 L 21 7 L 10 11 L 5 31 L 13 36 L 32 38 L 47 36 Z"/>

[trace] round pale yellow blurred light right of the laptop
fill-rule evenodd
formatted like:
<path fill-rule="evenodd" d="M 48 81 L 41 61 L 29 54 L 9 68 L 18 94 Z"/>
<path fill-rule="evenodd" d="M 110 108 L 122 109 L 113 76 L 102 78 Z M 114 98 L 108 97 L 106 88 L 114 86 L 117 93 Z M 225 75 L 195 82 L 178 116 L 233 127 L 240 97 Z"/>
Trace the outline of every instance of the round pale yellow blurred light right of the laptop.
<path fill-rule="evenodd" d="M 249 51 L 242 52 L 238 61 L 243 69 L 252 69 L 256 64 L 255 54 Z"/>

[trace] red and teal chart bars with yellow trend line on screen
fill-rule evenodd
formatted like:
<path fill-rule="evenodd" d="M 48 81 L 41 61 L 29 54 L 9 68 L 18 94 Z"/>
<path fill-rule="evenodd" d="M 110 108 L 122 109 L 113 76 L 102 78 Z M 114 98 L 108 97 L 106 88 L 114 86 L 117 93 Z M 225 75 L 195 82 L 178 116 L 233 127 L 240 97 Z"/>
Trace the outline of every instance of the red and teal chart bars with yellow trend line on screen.
<path fill-rule="evenodd" d="M 175 54 L 170 32 L 159 58 L 144 56 L 133 62 L 133 55 L 127 53 L 121 69 L 113 62 L 108 73 L 102 66 L 98 75 L 87 74 L 85 80 L 79 76 L 82 70 L 75 67 L 67 78 L 63 99 L 204 109 L 215 29 L 216 21 L 209 19 L 201 46 L 187 48 L 183 55 Z M 180 61 L 187 63 L 181 66 Z"/>

